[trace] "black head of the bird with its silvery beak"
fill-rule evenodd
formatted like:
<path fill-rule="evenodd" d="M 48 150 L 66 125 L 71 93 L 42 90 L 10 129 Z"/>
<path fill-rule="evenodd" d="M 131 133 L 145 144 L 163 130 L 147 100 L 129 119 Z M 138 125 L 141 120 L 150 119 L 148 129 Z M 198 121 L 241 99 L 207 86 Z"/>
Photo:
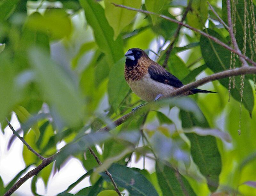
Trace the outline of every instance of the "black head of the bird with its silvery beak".
<path fill-rule="evenodd" d="M 139 49 L 139 48 L 129 49 L 124 56 L 126 57 L 125 65 L 127 66 L 136 65 L 138 63 L 138 60 L 142 57 L 148 58 L 148 55 L 146 54 L 146 52 L 144 52 L 142 49 Z"/>

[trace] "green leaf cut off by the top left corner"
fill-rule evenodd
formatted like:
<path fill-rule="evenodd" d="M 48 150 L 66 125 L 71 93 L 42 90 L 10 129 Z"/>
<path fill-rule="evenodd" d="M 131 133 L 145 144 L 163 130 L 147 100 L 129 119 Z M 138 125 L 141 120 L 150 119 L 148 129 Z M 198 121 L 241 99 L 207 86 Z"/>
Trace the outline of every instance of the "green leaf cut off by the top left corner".
<path fill-rule="evenodd" d="M 0 2 L 0 21 L 7 20 L 12 15 L 19 1 L 20 0 L 2 0 Z"/>

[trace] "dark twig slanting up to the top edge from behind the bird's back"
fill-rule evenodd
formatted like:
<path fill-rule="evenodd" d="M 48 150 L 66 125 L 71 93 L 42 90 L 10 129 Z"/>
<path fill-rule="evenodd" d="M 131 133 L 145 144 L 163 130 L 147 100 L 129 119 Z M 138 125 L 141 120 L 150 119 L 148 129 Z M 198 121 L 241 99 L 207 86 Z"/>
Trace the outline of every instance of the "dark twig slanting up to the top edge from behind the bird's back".
<path fill-rule="evenodd" d="M 187 14 L 188 14 L 188 11 L 191 9 L 192 1 L 193 1 L 193 0 L 190 0 L 190 1 L 188 2 L 188 6 L 187 6 L 187 8 L 186 8 L 186 10 L 185 10 L 185 12 L 184 12 L 184 14 L 183 14 L 182 19 L 181 19 L 180 22 L 183 22 L 183 21 L 186 19 Z M 174 42 L 176 41 L 176 39 L 177 39 L 178 36 L 179 36 L 181 26 L 182 26 L 182 25 L 179 24 L 177 30 L 175 31 L 175 34 L 173 35 L 173 40 L 172 40 L 172 42 L 170 43 L 168 49 L 166 50 L 166 57 L 165 57 L 164 63 L 163 63 L 163 67 L 164 67 L 164 68 L 165 68 L 165 67 L 167 66 L 167 64 L 168 64 L 168 60 L 169 60 L 171 51 L 172 51 L 173 46 L 174 46 Z"/>

